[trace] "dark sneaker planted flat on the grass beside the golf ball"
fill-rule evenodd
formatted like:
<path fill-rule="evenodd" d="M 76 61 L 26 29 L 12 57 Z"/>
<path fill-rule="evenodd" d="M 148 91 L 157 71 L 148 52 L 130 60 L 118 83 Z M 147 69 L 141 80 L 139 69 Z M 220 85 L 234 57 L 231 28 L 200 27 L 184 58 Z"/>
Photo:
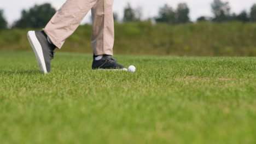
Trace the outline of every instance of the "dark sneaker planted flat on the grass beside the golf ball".
<path fill-rule="evenodd" d="M 127 70 L 123 65 L 117 63 L 117 61 L 109 55 L 103 55 L 103 57 L 92 62 L 93 70 Z"/>

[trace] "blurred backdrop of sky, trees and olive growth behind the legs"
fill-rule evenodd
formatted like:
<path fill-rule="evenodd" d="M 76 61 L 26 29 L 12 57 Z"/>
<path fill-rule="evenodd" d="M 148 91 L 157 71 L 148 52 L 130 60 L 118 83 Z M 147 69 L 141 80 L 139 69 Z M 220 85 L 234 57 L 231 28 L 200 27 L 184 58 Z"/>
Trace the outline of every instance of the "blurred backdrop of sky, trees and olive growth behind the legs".
<path fill-rule="evenodd" d="M 63 3 L 1 3 L 0 50 L 31 51 L 27 31 L 42 29 Z M 256 56 L 255 0 L 116 0 L 113 10 L 115 54 Z M 90 35 L 89 13 L 61 51 L 92 53 Z"/>

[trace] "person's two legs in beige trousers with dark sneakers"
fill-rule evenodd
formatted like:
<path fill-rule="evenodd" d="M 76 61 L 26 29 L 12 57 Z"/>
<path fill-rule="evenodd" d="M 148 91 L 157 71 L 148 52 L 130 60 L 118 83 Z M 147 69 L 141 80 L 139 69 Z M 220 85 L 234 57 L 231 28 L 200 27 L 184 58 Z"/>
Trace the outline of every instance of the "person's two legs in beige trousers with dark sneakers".
<path fill-rule="evenodd" d="M 123 65 L 118 64 L 111 57 L 114 43 L 112 4 L 113 0 L 67 0 L 42 32 L 28 32 L 28 40 L 42 73 L 50 72 L 55 46 L 59 49 L 62 47 L 65 40 L 77 29 L 84 16 L 94 6 L 92 47 L 94 55 L 103 56 L 93 62 L 92 69 L 124 69 Z"/>

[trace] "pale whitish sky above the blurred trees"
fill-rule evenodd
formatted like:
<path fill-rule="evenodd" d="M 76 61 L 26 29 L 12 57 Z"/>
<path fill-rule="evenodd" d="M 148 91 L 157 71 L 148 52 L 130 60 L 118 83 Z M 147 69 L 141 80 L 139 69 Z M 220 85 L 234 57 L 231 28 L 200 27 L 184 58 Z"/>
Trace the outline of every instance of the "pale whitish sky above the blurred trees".
<path fill-rule="evenodd" d="M 29 9 L 34 4 L 51 3 L 54 8 L 59 9 L 66 0 L 1 0 L 0 9 L 4 10 L 4 17 L 9 25 L 18 20 L 21 16 L 22 9 Z M 255 0 L 223 0 L 229 2 L 232 13 L 240 13 L 252 7 Z M 212 16 L 211 3 L 213 0 L 114 0 L 113 11 L 119 14 L 119 19 L 123 17 L 123 10 L 127 3 L 131 3 L 133 8 L 142 8 L 143 19 L 158 15 L 158 10 L 164 4 L 176 8 L 178 3 L 187 3 L 190 8 L 190 18 L 195 21 L 200 16 Z M 90 22 L 90 13 L 86 15 L 82 23 Z"/>

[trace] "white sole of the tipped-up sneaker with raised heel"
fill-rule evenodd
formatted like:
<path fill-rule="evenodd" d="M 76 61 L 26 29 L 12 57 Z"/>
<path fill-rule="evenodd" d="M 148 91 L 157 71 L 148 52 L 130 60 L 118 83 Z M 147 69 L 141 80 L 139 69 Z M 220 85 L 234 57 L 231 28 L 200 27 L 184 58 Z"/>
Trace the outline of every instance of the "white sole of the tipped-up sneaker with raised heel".
<path fill-rule="evenodd" d="M 27 39 L 28 41 L 30 41 L 30 45 L 34 51 L 34 55 L 36 55 L 37 63 L 39 65 L 41 73 L 46 74 L 47 70 L 44 62 L 43 50 L 42 50 L 42 46 L 40 45 L 36 37 L 36 33 L 34 31 L 29 31 L 27 33 Z"/>

